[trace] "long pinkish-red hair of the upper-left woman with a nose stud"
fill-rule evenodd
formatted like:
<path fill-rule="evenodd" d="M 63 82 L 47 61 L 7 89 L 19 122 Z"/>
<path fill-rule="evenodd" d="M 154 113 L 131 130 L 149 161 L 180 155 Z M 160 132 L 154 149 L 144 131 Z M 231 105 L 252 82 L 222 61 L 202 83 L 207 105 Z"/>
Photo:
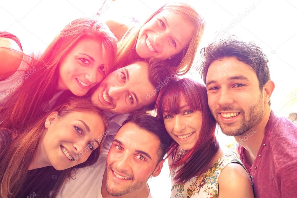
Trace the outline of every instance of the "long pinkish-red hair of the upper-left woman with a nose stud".
<path fill-rule="evenodd" d="M 40 118 L 43 113 L 40 107 L 57 91 L 60 62 L 84 38 L 102 43 L 103 58 L 107 63 L 105 74 L 112 69 L 117 39 L 109 28 L 89 18 L 72 21 L 53 39 L 42 56 L 30 65 L 28 71 L 34 68 L 35 72 L 11 94 L 7 102 L 1 104 L 0 117 L 4 118 L 1 127 L 22 132 L 28 124 Z"/>

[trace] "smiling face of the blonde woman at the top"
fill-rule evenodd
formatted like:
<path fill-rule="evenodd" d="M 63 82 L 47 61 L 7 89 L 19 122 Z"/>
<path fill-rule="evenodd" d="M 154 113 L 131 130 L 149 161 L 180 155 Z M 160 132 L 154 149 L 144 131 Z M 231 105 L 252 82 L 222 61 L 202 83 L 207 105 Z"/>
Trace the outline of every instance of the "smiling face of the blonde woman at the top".
<path fill-rule="evenodd" d="M 141 58 L 165 60 L 188 45 L 193 31 L 193 25 L 184 17 L 163 10 L 140 29 L 136 53 Z"/>

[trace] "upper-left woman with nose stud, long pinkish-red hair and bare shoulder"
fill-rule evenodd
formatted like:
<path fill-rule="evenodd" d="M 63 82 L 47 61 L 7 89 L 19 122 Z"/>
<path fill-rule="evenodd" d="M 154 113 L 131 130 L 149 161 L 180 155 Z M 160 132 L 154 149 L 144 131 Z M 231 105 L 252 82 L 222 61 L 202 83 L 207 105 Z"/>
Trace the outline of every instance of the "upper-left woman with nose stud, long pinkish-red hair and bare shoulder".
<path fill-rule="evenodd" d="M 0 39 L 0 126 L 20 132 L 50 111 L 64 90 L 85 95 L 116 58 L 117 39 L 105 24 L 88 18 L 65 26 L 36 61 L 14 50 L 17 46 L 10 49 L 13 37 L 5 37 Z"/>

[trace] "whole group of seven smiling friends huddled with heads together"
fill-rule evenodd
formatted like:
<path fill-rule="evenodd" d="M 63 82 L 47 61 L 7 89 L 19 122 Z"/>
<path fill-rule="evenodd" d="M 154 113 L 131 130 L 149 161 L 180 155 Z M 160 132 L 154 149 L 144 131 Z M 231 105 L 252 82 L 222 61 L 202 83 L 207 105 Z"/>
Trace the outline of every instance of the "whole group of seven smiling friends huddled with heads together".
<path fill-rule="evenodd" d="M 205 85 L 180 78 L 204 27 L 184 3 L 140 27 L 80 18 L 38 57 L 0 32 L 0 197 L 150 198 L 166 159 L 168 197 L 295 197 L 297 126 L 270 108 L 262 50 L 213 42 Z"/>

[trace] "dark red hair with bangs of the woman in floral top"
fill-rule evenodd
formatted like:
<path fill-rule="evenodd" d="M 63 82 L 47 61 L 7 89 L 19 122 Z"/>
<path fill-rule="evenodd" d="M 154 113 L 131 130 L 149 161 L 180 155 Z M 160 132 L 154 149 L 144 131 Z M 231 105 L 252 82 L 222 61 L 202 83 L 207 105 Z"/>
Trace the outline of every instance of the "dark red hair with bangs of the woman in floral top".
<path fill-rule="evenodd" d="M 193 111 L 202 111 L 202 126 L 199 139 L 195 146 L 179 159 L 174 160 L 178 143 L 172 140 L 168 146 L 167 157 L 172 156 L 170 169 L 183 165 L 174 176 L 175 183 L 185 183 L 187 180 L 203 174 L 219 149 L 214 135 L 216 121 L 211 115 L 207 102 L 206 87 L 189 78 L 173 81 L 161 89 L 156 102 L 157 118 L 162 120 L 163 113 L 180 113 L 181 99 L 184 99 Z"/>

